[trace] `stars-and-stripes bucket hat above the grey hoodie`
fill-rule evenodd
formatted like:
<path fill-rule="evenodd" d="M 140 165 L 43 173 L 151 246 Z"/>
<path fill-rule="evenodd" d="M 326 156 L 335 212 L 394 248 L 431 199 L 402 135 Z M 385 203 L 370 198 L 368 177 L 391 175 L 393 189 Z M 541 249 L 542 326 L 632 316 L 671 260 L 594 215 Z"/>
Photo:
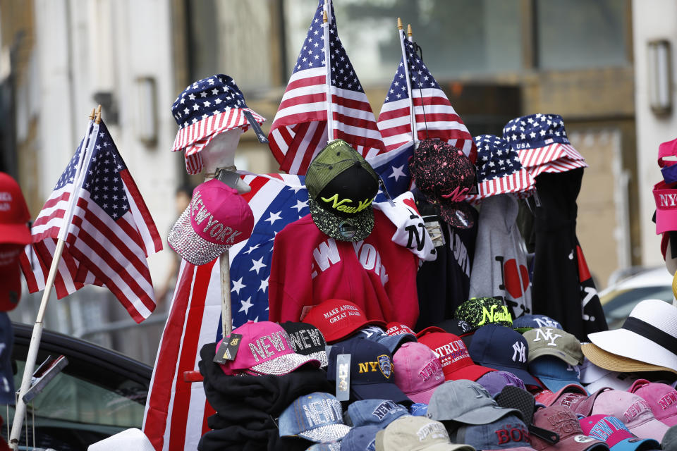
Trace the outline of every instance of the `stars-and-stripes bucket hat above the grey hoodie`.
<path fill-rule="evenodd" d="M 525 197 L 536 189 L 536 180 L 522 167 L 517 151 L 506 140 L 496 135 L 478 135 L 474 139 L 477 194 L 469 195 L 469 200 L 508 193 Z"/>

